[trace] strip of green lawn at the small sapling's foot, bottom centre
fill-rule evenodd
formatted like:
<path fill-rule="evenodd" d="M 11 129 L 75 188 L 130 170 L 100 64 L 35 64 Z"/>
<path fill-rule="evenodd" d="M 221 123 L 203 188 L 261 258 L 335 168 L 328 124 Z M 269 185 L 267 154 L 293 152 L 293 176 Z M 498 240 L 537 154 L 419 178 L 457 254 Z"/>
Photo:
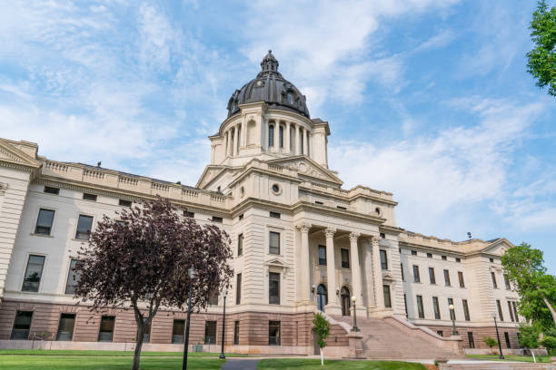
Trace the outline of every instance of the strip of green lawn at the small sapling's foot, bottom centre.
<path fill-rule="evenodd" d="M 325 360 L 321 367 L 321 360 L 306 358 L 272 358 L 262 360 L 257 369 L 265 370 L 312 370 L 312 369 L 349 369 L 349 370 L 425 370 L 421 364 L 404 363 L 400 361 L 334 361 Z"/>

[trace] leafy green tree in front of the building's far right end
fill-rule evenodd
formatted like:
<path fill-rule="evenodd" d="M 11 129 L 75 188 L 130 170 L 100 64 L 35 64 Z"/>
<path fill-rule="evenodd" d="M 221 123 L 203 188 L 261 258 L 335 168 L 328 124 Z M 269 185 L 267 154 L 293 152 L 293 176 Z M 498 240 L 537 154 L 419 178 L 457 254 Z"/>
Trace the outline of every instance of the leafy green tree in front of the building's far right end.
<path fill-rule="evenodd" d="M 521 297 L 521 316 L 539 322 L 543 328 L 556 326 L 556 278 L 546 273 L 542 251 L 521 243 L 508 249 L 501 263 Z"/>

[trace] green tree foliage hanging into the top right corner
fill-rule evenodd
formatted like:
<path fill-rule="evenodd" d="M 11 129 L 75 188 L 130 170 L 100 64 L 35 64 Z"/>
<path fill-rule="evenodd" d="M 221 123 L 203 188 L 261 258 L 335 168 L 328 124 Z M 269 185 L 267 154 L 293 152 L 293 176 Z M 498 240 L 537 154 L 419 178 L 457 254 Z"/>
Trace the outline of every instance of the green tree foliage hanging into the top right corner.
<path fill-rule="evenodd" d="M 556 96 L 556 6 L 549 10 L 541 0 L 529 28 L 535 47 L 526 54 L 527 72 L 535 77 L 537 86 L 548 86 L 548 93 Z"/>

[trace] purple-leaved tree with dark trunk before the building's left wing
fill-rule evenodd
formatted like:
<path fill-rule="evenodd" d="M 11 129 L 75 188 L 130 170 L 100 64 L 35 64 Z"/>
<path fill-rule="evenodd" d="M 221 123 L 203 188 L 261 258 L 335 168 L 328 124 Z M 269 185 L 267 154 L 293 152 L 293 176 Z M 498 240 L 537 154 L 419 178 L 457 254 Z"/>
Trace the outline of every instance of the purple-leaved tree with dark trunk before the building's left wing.
<path fill-rule="evenodd" d="M 133 370 L 139 369 L 144 331 L 159 307 L 184 309 L 189 286 L 192 307 L 206 307 L 212 292 L 228 285 L 232 270 L 230 239 L 214 225 L 180 219 L 168 200 L 104 218 L 79 251 L 75 297 L 91 301 L 92 310 L 131 308 L 137 324 Z M 190 278 L 189 268 L 195 275 Z"/>

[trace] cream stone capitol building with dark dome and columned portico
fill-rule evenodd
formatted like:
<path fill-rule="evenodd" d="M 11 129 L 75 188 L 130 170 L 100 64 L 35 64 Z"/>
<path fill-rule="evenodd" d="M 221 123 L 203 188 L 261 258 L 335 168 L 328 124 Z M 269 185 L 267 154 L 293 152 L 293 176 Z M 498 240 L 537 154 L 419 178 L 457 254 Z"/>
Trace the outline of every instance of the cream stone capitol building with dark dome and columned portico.
<path fill-rule="evenodd" d="M 342 169 L 328 166 L 329 123 L 310 115 L 278 66 L 269 52 L 233 92 L 194 186 L 52 161 L 36 143 L 0 139 L 0 348 L 129 350 L 133 310 L 77 305 L 72 267 L 104 214 L 157 195 L 232 239 L 227 352 L 313 355 L 317 311 L 332 324 L 325 355 L 353 355 L 353 346 L 374 358 L 471 353 L 496 337 L 493 316 L 502 348 L 519 348 L 519 297 L 501 266 L 511 242 L 410 232 L 396 223 L 392 193 L 343 189 Z M 215 294 L 194 314 L 190 344 L 220 352 L 223 300 Z M 181 350 L 184 318 L 161 309 L 144 350 Z"/>

